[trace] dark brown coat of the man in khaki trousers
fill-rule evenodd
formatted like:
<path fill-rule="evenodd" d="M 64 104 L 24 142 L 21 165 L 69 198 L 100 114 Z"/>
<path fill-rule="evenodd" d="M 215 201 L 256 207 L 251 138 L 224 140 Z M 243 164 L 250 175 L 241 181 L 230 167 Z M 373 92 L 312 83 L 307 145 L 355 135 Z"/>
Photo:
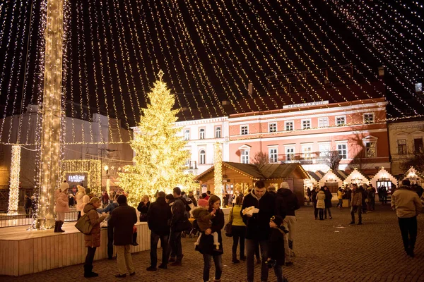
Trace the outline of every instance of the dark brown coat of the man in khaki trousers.
<path fill-rule="evenodd" d="M 119 204 L 112 211 L 112 216 L 107 221 L 107 226 L 113 228 L 113 245 L 124 246 L 133 243 L 133 226 L 137 223 L 137 214 L 134 207 L 128 204 Z"/>

